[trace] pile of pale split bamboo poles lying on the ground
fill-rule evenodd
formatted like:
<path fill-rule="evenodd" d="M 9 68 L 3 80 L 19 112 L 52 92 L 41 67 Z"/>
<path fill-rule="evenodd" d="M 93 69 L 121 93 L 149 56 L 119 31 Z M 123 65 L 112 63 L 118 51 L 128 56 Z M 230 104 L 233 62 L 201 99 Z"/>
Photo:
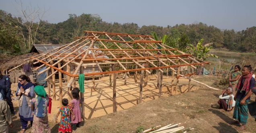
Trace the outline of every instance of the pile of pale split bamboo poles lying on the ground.
<path fill-rule="evenodd" d="M 166 125 L 166 126 L 157 126 L 157 127 L 154 127 L 152 129 L 147 129 L 145 131 L 143 131 L 143 133 L 186 133 L 190 130 L 193 130 L 194 128 L 185 128 L 183 126 L 179 126 L 179 124 L 175 124 L 175 125 L 172 125 L 172 124 L 169 124 L 169 125 Z"/>

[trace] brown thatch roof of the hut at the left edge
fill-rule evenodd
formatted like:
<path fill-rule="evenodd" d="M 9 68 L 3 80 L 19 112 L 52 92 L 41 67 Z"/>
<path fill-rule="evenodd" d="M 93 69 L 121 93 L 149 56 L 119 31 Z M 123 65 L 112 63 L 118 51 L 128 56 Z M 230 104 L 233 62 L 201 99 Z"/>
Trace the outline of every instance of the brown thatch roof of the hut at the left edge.
<path fill-rule="evenodd" d="M 18 66 L 24 63 L 24 59 L 29 58 L 30 56 L 36 56 L 37 53 L 29 53 L 23 55 L 8 55 L 8 54 L 0 54 L 0 71 L 4 71 L 6 69 L 11 69 L 12 67 Z"/>

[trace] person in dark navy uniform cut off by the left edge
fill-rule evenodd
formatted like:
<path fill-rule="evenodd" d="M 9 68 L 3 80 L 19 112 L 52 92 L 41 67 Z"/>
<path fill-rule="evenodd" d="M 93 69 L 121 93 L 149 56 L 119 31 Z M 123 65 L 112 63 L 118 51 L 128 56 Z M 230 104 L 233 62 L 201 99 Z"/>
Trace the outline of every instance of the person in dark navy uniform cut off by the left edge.
<path fill-rule="evenodd" d="M 11 97 L 10 78 L 7 75 L 2 75 L 1 71 L 0 71 L 0 85 L 6 87 L 4 99 L 6 100 L 7 104 L 9 105 L 11 113 L 15 115 L 16 113 L 14 111 L 14 107 L 12 104 L 12 97 Z"/>

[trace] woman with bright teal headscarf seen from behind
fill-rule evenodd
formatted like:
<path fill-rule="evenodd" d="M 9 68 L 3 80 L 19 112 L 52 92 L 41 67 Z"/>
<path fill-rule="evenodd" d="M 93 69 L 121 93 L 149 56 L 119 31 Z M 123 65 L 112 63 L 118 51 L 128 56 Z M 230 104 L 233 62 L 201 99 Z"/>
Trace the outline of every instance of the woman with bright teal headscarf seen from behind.
<path fill-rule="evenodd" d="M 31 133 L 51 133 L 51 129 L 48 125 L 47 106 L 49 105 L 49 97 L 46 95 L 45 88 L 41 85 L 37 85 L 34 88 L 37 94 L 36 98 L 33 98 L 32 111 L 34 111 L 34 119 Z"/>

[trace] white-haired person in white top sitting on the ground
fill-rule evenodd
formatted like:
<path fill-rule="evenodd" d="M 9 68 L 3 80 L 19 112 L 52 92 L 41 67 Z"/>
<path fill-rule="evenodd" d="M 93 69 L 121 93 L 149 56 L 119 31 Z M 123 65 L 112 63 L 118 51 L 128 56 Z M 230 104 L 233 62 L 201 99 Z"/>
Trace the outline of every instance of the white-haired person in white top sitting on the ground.
<path fill-rule="evenodd" d="M 224 95 L 227 93 L 227 95 Z M 221 95 L 219 95 L 219 109 L 221 111 L 231 111 L 236 105 L 234 100 L 234 95 L 232 94 L 232 88 L 228 87 L 226 90 L 223 90 Z"/>

